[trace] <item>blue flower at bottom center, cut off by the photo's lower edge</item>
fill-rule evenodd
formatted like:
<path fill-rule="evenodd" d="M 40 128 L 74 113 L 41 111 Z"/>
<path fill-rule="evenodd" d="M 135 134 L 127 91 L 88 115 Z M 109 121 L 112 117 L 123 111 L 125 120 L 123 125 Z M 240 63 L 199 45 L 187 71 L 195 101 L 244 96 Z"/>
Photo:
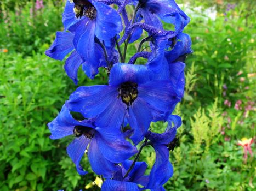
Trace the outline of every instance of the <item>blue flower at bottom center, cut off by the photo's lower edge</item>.
<path fill-rule="evenodd" d="M 129 175 L 124 177 L 132 165 L 132 160 L 126 160 L 113 175 L 113 179 L 107 179 L 101 186 L 101 191 L 139 191 L 141 186 L 146 186 L 149 183 L 149 176 L 144 176 L 147 164 L 145 162 L 136 162 L 134 168 L 129 172 Z"/>

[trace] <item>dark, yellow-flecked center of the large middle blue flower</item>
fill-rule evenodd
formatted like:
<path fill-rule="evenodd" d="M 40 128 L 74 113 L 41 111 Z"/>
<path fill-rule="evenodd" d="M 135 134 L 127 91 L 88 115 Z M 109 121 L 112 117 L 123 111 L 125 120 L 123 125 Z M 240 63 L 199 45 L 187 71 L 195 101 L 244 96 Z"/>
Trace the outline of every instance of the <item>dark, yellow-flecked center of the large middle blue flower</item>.
<path fill-rule="evenodd" d="M 132 105 L 134 100 L 138 97 L 138 84 L 133 82 L 124 82 L 118 88 L 118 98 L 122 98 L 122 102 L 126 105 Z"/>

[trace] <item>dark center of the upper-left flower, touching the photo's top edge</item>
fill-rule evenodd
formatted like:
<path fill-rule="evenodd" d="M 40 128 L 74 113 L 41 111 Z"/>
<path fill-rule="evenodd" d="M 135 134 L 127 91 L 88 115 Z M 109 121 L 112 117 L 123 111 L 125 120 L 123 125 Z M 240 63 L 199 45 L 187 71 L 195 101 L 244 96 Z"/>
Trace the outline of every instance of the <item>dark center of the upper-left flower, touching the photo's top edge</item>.
<path fill-rule="evenodd" d="M 77 18 L 82 16 L 86 16 L 90 20 L 96 18 L 97 11 L 92 3 L 87 0 L 74 0 L 73 2 L 75 3 L 74 12 Z"/>

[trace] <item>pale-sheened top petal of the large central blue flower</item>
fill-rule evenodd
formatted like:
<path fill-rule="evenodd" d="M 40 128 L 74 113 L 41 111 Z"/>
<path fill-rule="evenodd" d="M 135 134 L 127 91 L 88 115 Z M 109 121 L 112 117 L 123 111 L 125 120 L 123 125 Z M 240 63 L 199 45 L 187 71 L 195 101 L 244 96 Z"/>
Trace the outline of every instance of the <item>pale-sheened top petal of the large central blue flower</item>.
<path fill-rule="evenodd" d="M 110 72 L 110 85 L 120 85 L 123 82 L 138 84 L 149 81 L 149 72 L 144 65 L 116 63 Z"/>

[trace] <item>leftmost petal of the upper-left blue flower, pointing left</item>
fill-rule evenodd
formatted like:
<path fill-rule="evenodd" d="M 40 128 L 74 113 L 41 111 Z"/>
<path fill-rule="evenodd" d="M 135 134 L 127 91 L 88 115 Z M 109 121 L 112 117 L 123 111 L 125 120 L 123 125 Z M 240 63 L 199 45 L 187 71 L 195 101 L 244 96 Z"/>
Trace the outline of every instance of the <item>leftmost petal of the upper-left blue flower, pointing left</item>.
<path fill-rule="evenodd" d="M 73 38 L 73 33 L 57 32 L 52 46 L 50 46 L 49 49 L 45 51 L 45 55 L 61 61 L 68 53 L 74 49 Z"/>

